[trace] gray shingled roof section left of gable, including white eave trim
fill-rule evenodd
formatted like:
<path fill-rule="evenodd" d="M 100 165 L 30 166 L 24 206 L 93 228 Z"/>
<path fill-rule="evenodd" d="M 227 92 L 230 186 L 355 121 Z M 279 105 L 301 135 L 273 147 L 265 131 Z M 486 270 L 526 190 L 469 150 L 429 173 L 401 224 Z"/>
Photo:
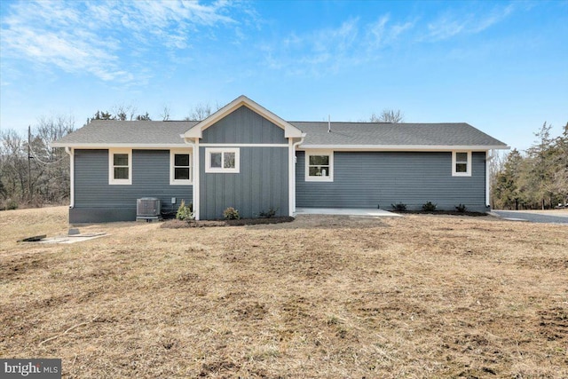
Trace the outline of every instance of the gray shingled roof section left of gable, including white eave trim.
<path fill-rule="evenodd" d="M 54 147 L 164 147 L 185 146 L 180 137 L 197 121 L 93 120 L 60 138 Z"/>

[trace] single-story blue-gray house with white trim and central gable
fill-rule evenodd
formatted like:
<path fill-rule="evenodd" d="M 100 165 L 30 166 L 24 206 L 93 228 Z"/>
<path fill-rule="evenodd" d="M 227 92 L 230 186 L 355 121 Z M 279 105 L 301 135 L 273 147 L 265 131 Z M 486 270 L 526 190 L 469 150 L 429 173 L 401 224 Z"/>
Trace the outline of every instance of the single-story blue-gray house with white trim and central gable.
<path fill-rule="evenodd" d="M 135 220 L 137 200 L 197 219 L 296 207 L 485 211 L 489 161 L 508 148 L 467 123 L 288 122 L 241 96 L 202 121 L 91 121 L 60 138 L 69 222 Z"/>

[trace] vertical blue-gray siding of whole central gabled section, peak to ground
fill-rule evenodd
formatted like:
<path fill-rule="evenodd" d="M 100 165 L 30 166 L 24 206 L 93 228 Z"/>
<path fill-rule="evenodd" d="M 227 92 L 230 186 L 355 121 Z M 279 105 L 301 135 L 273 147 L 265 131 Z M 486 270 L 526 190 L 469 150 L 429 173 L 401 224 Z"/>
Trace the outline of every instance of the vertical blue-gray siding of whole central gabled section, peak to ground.
<path fill-rule="evenodd" d="M 207 147 L 200 146 L 200 219 L 223 218 L 229 207 L 243 218 L 270 209 L 288 215 L 288 138 L 282 128 L 243 106 L 203 130 L 200 144 L 240 152 L 239 173 L 210 173 L 205 172 Z"/>

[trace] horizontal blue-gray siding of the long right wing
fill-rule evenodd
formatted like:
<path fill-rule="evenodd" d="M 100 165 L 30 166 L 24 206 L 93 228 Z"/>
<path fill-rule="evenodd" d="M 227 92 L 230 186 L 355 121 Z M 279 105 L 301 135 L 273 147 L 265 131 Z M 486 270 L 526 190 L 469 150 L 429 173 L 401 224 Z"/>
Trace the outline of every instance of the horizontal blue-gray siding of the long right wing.
<path fill-rule="evenodd" d="M 485 209 L 485 153 L 472 153 L 471 177 L 452 176 L 452 153 L 335 152 L 334 181 L 306 182 L 305 154 L 296 152 L 296 207 L 377 208 L 403 202 L 421 209 L 465 204 Z"/>

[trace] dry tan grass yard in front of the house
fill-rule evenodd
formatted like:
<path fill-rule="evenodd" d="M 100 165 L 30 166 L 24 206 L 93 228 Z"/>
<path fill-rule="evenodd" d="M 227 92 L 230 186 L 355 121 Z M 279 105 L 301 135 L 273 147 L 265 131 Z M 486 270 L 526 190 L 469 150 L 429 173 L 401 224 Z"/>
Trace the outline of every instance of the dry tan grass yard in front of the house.
<path fill-rule="evenodd" d="M 80 227 L 0 212 L 0 356 L 64 377 L 568 377 L 568 227 L 493 217 Z"/>

